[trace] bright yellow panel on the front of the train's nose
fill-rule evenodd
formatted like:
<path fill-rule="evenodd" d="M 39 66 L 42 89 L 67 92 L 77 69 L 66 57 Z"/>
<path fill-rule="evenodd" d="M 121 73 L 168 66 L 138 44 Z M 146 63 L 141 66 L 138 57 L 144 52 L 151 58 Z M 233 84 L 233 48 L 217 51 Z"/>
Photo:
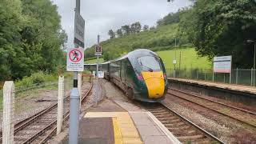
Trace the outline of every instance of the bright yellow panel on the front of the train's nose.
<path fill-rule="evenodd" d="M 142 72 L 146 82 L 149 98 L 161 98 L 165 91 L 165 80 L 162 71 Z"/>

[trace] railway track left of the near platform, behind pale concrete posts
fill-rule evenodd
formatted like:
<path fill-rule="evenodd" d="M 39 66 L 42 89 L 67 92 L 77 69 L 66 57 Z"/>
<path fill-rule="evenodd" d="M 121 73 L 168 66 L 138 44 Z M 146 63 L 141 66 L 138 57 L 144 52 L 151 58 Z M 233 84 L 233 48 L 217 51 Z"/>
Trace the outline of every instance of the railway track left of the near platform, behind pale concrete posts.
<path fill-rule="evenodd" d="M 87 90 L 82 101 L 90 93 L 92 89 L 92 82 L 90 88 Z M 64 99 L 64 121 L 69 118 L 70 114 L 70 98 Z M 58 103 L 49 106 L 45 110 L 30 116 L 14 125 L 14 143 L 44 143 L 57 130 L 57 109 Z M 1 132 L 2 134 L 2 132 Z M 2 140 L 2 135 L 1 135 Z"/>

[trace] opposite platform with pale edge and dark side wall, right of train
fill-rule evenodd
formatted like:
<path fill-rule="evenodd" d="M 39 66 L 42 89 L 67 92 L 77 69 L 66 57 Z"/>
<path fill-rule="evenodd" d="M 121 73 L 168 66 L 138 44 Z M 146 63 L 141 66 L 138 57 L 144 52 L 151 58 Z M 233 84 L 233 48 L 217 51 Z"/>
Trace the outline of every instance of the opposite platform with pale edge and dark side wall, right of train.
<path fill-rule="evenodd" d="M 186 92 L 226 99 L 229 102 L 255 106 L 256 89 L 253 86 L 241 86 L 218 82 L 205 82 L 183 78 L 168 78 L 170 87 Z"/>

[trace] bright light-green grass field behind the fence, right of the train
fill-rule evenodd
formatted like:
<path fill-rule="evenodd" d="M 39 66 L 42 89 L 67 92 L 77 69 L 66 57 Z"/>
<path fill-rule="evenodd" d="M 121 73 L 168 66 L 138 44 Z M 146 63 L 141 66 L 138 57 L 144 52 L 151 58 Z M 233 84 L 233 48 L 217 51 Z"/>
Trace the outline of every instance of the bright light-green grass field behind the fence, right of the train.
<path fill-rule="evenodd" d="M 211 62 L 206 57 L 199 57 L 194 48 L 186 48 L 176 50 L 177 69 L 179 68 L 180 52 L 182 55 L 181 69 L 190 69 L 191 67 L 194 69 L 210 69 L 212 67 Z M 174 68 L 175 50 L 158 51 L 157 54 L 162 58 L 166 69 Z"/>

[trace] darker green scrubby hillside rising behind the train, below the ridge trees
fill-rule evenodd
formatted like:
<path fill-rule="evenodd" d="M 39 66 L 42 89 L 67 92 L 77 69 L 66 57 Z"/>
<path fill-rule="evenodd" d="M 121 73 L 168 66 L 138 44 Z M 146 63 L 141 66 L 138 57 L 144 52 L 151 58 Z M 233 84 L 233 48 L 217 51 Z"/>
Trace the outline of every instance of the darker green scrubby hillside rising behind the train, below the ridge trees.
<path fill-rule="evenodd" d="M 142 31 L 138 34 L 130 34 L 121 38 L 108 39 L 101 42 L 104 60 L 118 58 L 131 50 L 149 48 L 150 50 L 170 50 L 175 45 L 175 34 L 178 32 L 178 24 L 158 26 L 154 30 Z M 178 41 L 177 41 L 178 43 Z M 94 57 L 94 46 L 86 49 L 87 58 Z"/>

